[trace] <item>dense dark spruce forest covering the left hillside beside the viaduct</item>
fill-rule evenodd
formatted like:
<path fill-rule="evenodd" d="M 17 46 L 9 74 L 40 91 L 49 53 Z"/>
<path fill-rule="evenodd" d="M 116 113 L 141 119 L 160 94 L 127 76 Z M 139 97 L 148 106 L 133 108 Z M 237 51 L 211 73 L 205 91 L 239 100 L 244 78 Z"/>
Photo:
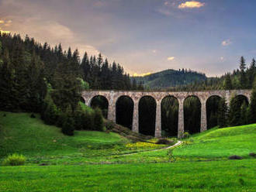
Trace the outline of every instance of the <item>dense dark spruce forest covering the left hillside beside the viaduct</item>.
<path fill-rule="evenodd" d="M 0 110 L 39 112 L 47 124 L 67 135 L 74 129 L 102 130 L 102 112 L 81 104 L 81 91 L 133 89 L 123 67 L 102 55 L 80 59 L 78 50 L 64 51 L 26 36 L 0 33 Z"/>

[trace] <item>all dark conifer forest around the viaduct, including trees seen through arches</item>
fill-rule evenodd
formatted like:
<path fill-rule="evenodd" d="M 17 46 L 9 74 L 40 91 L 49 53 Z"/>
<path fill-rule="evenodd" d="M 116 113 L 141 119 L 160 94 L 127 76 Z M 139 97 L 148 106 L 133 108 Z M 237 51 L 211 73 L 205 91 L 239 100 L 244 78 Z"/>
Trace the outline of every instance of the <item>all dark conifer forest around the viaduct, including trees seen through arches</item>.
<path fill-rule="evenodd" d="M 191 73 L 196 74 L 193 71 Z M 201 81 L 177 84 L 167 90 L 254 88 L 250 105 L 247 98 L 237 96 L 232 98 L 228 108 L 225 98 L 212 97 L 207 101 L 206 109 L 208 128 L 256 122 L 255 60 L 246 67 L 244 57 L 241 57 L 239 69 L 222 77 L 205 78 L 203 74 L 200 76 Z M 0 110 L 40 113 L 44 122 L 61 127 L 66 135 L 73 135 L 74 129 L 104 129 L 103 117 L 107 118 L 107 101 L 102 97 L 95 98 L 92 101 L 94 109 L 88 109 L 81 99 L 81 91 L 144 89 L 142 83 L 137 84 L 136 78 L 130 78 L 119 63 L 109 63 L 101 54 L 88 56 L 85 53 L 81 57 L 78 50 L 63 50 L 61 44 L 51 47 L 48 43 L 37 43 L 29 36 L 22 39 L 19 35 L 10 34 L 0 34 L 0 87 Z M 199 132 L 199 99 L 187 98 L 184 105 L 185 131 Z M 140 132 L 154 135 L 154 99 L 141 99 L 139 108 Z M 120 98 L 116 110 L 116 122 L 131 128 L 133 101 L 126 97 Z M 172 97 L 164 98 L 161 115 L 163 135 L 177 135 L 178 101 Z"/>

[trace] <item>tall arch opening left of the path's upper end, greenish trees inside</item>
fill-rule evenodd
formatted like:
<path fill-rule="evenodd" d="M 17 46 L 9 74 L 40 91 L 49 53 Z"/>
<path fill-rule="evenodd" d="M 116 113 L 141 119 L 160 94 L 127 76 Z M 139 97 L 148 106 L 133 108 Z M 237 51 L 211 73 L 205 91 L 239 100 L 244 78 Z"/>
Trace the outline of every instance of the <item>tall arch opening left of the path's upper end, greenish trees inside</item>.
<path fill-rule="evenodd" d="M 178 99 L 173 96 L 161 101 L 161 130 L 163 136 L 178 135 Z"/>

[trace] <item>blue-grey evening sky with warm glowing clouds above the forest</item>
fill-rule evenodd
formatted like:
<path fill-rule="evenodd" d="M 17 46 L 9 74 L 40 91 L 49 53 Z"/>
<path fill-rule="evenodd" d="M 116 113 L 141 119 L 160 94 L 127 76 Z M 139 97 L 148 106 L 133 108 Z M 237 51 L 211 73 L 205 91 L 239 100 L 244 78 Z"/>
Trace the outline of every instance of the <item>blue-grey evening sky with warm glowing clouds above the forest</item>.
<path fill-rule="evenodd" d="M 0 0 L 0 30 L 102 53 L 130 75 L 220 76 L 256 57 L 255 0 Z"/>

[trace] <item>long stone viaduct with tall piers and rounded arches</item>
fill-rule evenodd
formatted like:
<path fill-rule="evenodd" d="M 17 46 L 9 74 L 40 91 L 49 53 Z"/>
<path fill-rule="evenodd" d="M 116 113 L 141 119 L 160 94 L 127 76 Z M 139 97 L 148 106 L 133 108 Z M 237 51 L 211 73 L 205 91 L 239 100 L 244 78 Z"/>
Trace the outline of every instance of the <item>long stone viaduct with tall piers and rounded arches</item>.
<path fill-rule="evenodd" d="M 244 95 L 247 101 L 250 102 L 251 90 L 232 90 L 232 91 L 191 91 L 191 92 L 168 92 L 168 91 L 84 91 L 82 98 L 85 99 L 85 104 L 90 106 L 92 98 L 103 96 L 109 102 L 108 119 L 116 122 L 116 101 L 127 96 L 133 100 L 133 132 L 139 132 L 139 101 L 140 98 L 150 96 L 154 98 L 157 104 L 156 122 L 155 122 L 155 137 L 161 137 L 161 101 L 165 97 L 172 96 L 178 100 L 178 137 L 184 132 L 184 112 L 183 104 L 186 98 L 195 96 L 201 102 L 201 128 L 203 132 L 207 129 L 206 122 L 206 101 L 212 96 L 226 98 L 227 104 L 230 103 L 230 98 L 236 95 Z"/>

